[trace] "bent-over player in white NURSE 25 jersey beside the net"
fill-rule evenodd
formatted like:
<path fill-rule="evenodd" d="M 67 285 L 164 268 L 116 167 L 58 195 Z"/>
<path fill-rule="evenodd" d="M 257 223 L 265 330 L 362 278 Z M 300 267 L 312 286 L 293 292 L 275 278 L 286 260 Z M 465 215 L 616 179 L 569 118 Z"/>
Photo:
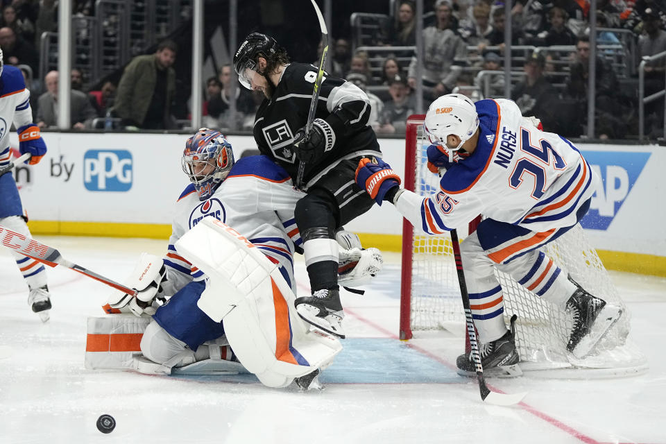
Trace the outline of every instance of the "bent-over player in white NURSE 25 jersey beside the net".
<path fill-rule="evenodd" d="M 378 202 L 388 200 L 416 228 L 442 234 L 486 219 L 461 243 L 470 305 L 484 368 L 518 363 L 513 328 L 504 325 L 499 266 L 529 291 L 573 316 L 567 350 L 583 357 L 622 315 L 570 280 L 538 248 L 570 230 L 586 214 L 599 180 L 580 151 L 564 137 L 540 130 L 513 101 L 447 94 L 430 105 L 424 129 L 431 146 L 429 169 L 443 173 L 440 190 L 427 198 L 400 189 L 400 178 L 382 160 L 364 159 L 359 186 Z M 597 322 L 595 322 L 597 321 Z M 473 372 L 469 355 L 457 361 Z"/>

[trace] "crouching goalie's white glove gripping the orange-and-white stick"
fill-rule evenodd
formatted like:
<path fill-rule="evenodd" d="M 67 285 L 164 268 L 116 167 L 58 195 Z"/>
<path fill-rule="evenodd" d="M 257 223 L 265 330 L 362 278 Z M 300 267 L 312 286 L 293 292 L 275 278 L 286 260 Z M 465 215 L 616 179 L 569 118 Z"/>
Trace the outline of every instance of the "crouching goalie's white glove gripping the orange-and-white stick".
<path fill-rule="evenodd" d="M 136 316 L 155 314 L 159 305 L 155 298 L 164 298 L 162 286 L 166 282 L 167 270 L 161 257 L 142 253 L 139 262 L 128 278 L 123 282 L 127 287 L 138 291 L 134 296 L 114 291 L 108 298 L 108 304 L 104 309 L 108 313 L 132 312 Z M 111 309 L 111 310 L 110 310 Z"/>

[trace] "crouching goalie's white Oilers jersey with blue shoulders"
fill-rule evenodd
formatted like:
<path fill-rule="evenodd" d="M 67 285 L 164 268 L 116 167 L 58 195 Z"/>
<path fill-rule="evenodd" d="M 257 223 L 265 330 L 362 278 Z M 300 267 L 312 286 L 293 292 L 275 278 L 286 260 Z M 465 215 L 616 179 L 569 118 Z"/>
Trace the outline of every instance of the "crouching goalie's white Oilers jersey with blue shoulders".
<path fill-rule="evenodd" d="M 266 156 L 241 158 L 215 193 L 199 200 L 194 185 L 182 192 L 176 203 L 169 251 L 164 257 L 167 278 L 178 291 L 191 280 L 203 280 L 202 271 L 178 254 L 176 241 L 205 217 L 232 226 L 255 244 L 271 262 L 284 266 L 288 284 L 293 279 L 294 247 L 300 246 L 293 209 L 305 196 L 291 184 L 291 177 Z"/>

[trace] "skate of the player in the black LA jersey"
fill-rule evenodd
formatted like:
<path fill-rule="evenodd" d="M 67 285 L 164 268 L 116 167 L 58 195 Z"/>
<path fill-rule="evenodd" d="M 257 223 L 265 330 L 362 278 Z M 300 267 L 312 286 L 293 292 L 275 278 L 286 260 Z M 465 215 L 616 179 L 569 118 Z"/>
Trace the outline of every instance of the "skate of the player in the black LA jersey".
<path fill-rule="evenodd" d="M 295 305 L 298 316 L 303 321 L 344 339 L 342 320 L 345 313 L 342 310 L 338 289 L 317 290 L 312 296 L 296 298 Z"/>

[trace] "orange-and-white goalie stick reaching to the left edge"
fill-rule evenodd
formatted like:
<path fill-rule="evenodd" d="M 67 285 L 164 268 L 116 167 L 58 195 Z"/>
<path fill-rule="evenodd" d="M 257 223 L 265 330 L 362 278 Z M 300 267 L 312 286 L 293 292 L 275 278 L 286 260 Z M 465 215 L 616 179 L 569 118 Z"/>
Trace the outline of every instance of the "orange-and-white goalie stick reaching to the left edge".
<path fill-rule="evenodd" d="M 21 253 L 24 256 L 31 257 L 36 261 L 42 262 L 42 264 L 46 264 L 52 267 L 55 267 L 56 265 L 62 265 L 67 268 L 71 268 L 72 270 L 81 273 L 82 275 L 86 275 L 87 277 L 97 280 L 105 285 L 108 285 L 109 287 L 113 287 L 114 289 L 123 291 L 132 296 L 137 296 L 137 291 L 135 289 L 125 287 L 123 284 L 119 284 L 118 282 L 114 282 L 109 278 L 98 275 L 93 271 L 89 271 L 87 268 L 83 268 L 80 265 L 74 264 L 74 262 L 69 262 L 67 259 L 64 259 L 62 255 L 60 255 L 60 252 L 56 250 L 56 248 L 51 248 L 41 244 L 40 242 L 35 241 L 35 239 L 26 237 L 25 234 L 12 231 L 3 225 L 0 225 L 0 244 L 6 246 L 7 248 L 11 248 L 12 250 L 16 250 L 18 253 Z"/>

